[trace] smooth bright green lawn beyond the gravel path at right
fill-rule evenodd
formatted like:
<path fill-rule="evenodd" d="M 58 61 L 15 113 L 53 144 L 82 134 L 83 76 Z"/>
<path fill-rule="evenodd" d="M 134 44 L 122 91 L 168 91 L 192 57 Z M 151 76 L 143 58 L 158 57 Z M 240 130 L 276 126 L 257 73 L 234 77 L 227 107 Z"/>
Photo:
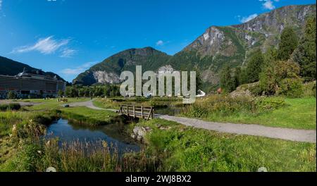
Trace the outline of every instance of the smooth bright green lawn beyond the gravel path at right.
<path fill-rule="evenodd" d="M 251 115 L 237 113 L 231 116 L 210 114 L 206 120 L 261 124 L 280 128 L 315 129 L 316 130 L 316 98 L 285 98 L 287 106 L 265 113 Z"/>

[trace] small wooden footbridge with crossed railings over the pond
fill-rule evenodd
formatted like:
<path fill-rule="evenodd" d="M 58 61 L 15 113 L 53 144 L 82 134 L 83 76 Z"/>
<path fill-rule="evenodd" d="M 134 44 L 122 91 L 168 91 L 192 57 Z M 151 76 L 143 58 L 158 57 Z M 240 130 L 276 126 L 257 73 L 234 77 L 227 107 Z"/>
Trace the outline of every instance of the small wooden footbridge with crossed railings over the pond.
<path fill-rule="evenodd" d="M 154 108 L 135 106 L 135 105 L 121 105 L 118 113 L 124 114 L 133 118 L 142 118 L 146 120 L 153 119 Z"/>

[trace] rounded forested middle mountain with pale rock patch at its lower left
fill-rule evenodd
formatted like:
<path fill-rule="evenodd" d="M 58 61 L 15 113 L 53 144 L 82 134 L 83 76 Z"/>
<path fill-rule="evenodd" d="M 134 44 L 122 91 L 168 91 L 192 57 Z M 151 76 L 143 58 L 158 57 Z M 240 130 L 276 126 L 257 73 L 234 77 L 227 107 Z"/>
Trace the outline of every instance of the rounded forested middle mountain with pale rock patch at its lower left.
<path fill-rule="evenodd" d="M 85 73 L 78 75 L 74 84 L 92 85 L 94 83 L 118 83 L 120 73 L 125 70 L 135 72 L 135 66 L 142 66 L 142 71 L 157 70 L 166 65 L 171 56 L 151 47 L 121 51 L 101 63 L 92 66 Z"/>

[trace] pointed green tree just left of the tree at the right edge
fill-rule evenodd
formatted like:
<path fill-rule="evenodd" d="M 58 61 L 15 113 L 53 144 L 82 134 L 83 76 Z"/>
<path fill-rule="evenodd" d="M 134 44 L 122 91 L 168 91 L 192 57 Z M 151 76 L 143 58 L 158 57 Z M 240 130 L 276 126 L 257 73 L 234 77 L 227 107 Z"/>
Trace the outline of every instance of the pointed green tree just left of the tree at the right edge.
<path fill-rule="evenodd" d="M 294 49 L 297 48 L 297 45 L 298 38 L 292 27 L 285 27 L 280 35 L 280 43 L 278 44 L 278 60 L 287 61 Z"/>

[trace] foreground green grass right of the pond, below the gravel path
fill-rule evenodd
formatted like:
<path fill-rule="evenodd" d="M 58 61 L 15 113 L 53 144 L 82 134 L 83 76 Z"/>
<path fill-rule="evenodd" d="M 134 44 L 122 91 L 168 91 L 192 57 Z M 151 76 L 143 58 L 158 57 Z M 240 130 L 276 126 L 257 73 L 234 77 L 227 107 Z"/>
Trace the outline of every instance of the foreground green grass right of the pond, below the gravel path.
<path fill-rule="evenodd" d="M 316 144 L 230 135 L 161 119 L 136 125 L 153 130 L 146 151 L 163 161 L 165 171 L 257 171 L 262 166 L 268 171 L 316 171 Z"/>

